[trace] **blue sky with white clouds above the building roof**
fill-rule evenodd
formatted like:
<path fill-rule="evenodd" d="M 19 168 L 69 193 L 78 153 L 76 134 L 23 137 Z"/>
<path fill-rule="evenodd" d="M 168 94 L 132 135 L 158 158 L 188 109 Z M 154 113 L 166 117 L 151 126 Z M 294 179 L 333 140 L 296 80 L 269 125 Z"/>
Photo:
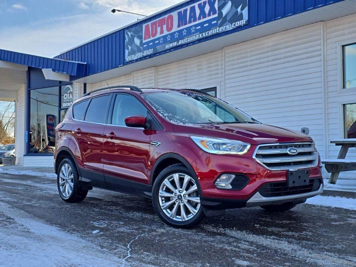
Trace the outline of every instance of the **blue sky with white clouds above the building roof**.
<path fill-rule="evenodd" d="M 0 0 L 0 48 L 54 57 L 182 0 Z"/>

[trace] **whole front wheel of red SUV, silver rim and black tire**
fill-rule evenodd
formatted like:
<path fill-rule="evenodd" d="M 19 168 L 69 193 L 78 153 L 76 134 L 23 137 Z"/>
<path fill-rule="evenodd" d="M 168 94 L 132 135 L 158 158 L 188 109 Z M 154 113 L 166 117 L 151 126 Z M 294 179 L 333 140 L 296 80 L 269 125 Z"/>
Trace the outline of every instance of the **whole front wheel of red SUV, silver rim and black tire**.
<path fill-rule="evenodd" d="M 194 227 L 205 218 L 197 181 L 182 164 L 169 166 L 158 175 L 152 203 L 162 221 L 173 227 Z"/>

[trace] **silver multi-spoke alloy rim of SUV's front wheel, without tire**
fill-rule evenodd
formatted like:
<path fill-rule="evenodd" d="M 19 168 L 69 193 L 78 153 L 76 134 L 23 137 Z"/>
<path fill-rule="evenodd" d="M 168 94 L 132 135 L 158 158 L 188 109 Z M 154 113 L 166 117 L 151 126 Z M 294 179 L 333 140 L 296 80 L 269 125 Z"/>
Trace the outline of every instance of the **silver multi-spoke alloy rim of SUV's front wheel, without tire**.
<path fill-rule="evenodd" d="M 192 219 L 200 209 L 197 184 L 184 173 L 174 173 L 165 178 L 158 196 L 163 212 L 175 221 Z"/>

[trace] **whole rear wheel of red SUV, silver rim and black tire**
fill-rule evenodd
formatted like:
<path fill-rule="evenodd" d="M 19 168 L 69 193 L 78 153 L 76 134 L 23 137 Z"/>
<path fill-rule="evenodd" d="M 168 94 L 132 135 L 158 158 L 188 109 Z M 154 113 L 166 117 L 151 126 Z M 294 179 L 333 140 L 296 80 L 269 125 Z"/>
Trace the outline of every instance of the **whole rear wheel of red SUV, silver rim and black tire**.
<path fill-rule="evenodd" d="M 88 194 L 88 190 L 83 190 L 80 185 L 77 168 L 69 158 L 63 159 L 59 164 L 57 187 L 61 198 L 70 203 L 83 201 Z"/>

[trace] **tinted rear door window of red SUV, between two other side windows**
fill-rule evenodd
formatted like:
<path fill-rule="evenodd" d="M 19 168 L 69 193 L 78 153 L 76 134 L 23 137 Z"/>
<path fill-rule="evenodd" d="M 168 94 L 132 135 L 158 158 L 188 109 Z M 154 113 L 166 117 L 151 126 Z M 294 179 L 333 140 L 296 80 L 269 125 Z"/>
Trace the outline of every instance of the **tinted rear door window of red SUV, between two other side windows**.
<path fill-rule="evenodd" d="M 91 99 L 85 121 L 105 123 L 105 112 L 108 107 L 110 95 L 99 96 Z"/>

